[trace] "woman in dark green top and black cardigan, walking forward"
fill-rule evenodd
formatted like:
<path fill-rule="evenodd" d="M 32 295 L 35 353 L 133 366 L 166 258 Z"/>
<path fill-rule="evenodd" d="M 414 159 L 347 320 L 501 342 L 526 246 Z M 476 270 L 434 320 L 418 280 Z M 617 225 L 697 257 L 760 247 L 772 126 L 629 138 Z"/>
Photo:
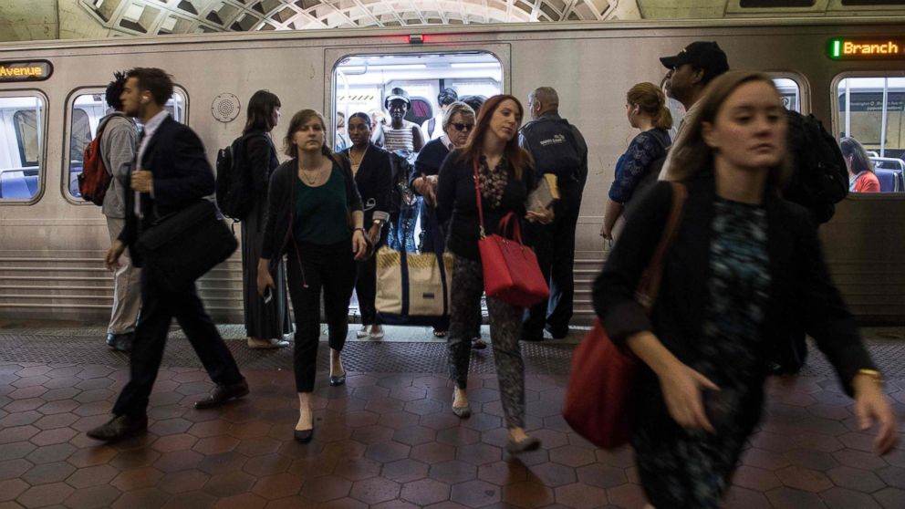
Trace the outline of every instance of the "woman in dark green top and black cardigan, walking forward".
<path fill-rule="evenodd" d="M 272 289 L 272 262 L 286 253 L 289 296 L 296 316 L 299 415 L 296 441 L 314 434 L 311 393 L 317 372 L 320 300 L 323 293 L 330 345 L 330 385 L 346 381 L 339 353 L 348 333 L 348 301 L 355 286 L 355 259 L 368 251 L 361 197 L 348 161 L 327 146 L 327 122 L 314 109 L 289 121 L 284 162 L 270 178 L 270 201 L 257 289 Z"/>

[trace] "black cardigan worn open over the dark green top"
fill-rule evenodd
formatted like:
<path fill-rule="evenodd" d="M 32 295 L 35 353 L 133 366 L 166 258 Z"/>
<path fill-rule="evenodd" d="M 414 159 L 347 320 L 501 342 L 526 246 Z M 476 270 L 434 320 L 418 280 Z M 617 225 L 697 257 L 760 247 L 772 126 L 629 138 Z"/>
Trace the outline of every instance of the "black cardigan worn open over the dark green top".
<path fill-rule="evenodd" d="M 352 177 L 352 169 L 345 156 L 335 154 L 331 171 L 342 171 L 346 180 L 346 203 L 348 213 L 361 210 L 361 196 Z M 298 182 L 298 160 L 293 158 L 284 162 L 270 176 L 270 192 L 267 194 L 267 222 L 264 227 L 264 242 L 261 245 L 261 257 L 269 260 L 274 255 L 282 256 L 292 231 L 289 229 L 291 215 L 294 213 L 292 203 L 296 195 Z"/>

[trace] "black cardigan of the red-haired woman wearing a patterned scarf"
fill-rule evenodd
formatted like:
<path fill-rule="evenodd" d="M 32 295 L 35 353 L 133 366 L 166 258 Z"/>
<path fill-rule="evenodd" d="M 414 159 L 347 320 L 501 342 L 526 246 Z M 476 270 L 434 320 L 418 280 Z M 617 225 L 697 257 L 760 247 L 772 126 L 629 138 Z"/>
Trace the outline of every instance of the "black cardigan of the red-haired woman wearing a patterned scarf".
<path fill-rule="evenodd" d="M 461 151 L 452 151 L 440 168 L 437 183 L 437 220 L 442 224 L 450 218 L 449 243 L 447 247 L 452 253 L 480 260 L 478 239 L 480 223 L 478 222 L 478 203 L 474 192 L 474 170 L 472 160 L 462 157 Z M 522 223 L 525 218 L 525 201 L 528 193 L 536 188 L 534 169 L 525 166 L 522 179 L 515 179 L 515 171 L 509 167 L 509 180 L 503 192 L 503 202 L 493 208 L 487 200 L 482 199 L 484 207 L 484 232 L 487 235 L 498 233 L 498 223 L 507 213 L 515 213 L 515 219 Z M 523 228 L 524 229 L 524 228 Z M 506 237 L 511 234 L 507 233 Z"/>

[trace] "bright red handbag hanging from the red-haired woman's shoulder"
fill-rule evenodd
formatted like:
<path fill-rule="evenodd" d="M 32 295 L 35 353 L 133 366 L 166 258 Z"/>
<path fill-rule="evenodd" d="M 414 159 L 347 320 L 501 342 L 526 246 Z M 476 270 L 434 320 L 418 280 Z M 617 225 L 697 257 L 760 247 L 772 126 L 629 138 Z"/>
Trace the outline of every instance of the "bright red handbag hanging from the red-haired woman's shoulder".
<path fill-rule="evenodd" d="M 484 235 L 484 207 L 481 204 L 480 177 L 477 161 L 474 167 L 474 192 L 478 202 L 478 218 L 481 221 L 481 265 L 484 268 L 484 292 L 518 307 L 534 306 L 550 296 L 550 288 L 540 271 L 537 256 L 530 247 L 522 244 L 522 232 L 518 218 L 507 213 L 500 220 L 500 232 L 505 234 L 509 223 L 513 224 L 513 238 L 502 235 Z"/>

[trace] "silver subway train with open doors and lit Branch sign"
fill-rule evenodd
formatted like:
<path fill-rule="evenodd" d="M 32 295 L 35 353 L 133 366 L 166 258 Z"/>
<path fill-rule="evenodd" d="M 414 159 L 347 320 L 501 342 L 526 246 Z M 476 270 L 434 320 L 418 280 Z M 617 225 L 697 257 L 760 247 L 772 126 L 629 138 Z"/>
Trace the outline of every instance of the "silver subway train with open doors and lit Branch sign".
<path fill-rule="evenodd" d="M 0 45 L 0 317 L 102 319 L 112 278 L 99 207 L 78 196 L 81 153 L 106 105 L 113 71 L 172 74 L 174 118 L 197 131 L 213 163 L 242 130 L 260 88 L 298 109 L 380 110 L 390 88 L 429 119 L 442 88 L 527 98 L 557 88 L 560 113 L 588 141 L 589 176 L 577 226 L 576 317 L 589 324 L 591 283 L 606 256 L 598 236 L 615 162 L 635 132 L 625 93 L 659 83 L 659 57 L 713 40 L 732 68 L 775 78 L 788 108 L 837 136 L 861 140 L 884 171 L 883 192 L 851 195 L 821 227 L 835 281 L 863 324 L 905 323 L 905 17 L 425 26 L 112 38 Z M 896 53 L 879 47 L 895 47 Z M 853 49 L 854 48 L 854 49 Z M 877 51 L 872 51 L 872 49 Z M 676 105 L 673 105 L 676 108 Z M 675 110 L 678 121 L 681 111 Z M 335 128 L 335 126 L 334 126 Z M 336 140 L 341 140 L 341 132 Z M 237 224 L 236 228 L 241 228 Z M 237 233 L 237 232 L 236 232 Z M 238 254 L 200 283 L 220 321 L 242 321 Z"/>

